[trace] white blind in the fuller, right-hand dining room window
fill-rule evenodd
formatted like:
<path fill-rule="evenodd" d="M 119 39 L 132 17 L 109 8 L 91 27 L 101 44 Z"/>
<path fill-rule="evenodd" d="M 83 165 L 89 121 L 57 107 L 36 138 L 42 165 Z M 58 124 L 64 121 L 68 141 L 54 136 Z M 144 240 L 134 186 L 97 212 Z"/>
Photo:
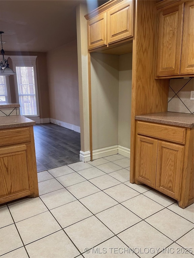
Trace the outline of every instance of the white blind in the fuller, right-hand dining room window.
<path fill-rule="evenodd" d="M 37 116 L 33 66 L 16 66 L 20 114 Z"/>

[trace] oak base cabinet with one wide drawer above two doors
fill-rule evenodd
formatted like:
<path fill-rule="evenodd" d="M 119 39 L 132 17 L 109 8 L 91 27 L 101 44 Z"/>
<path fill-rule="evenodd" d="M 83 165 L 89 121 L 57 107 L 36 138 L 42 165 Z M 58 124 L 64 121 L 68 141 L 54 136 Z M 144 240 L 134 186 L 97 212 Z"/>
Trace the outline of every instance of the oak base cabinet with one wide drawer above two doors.
<path fill-rule="evenodd" d="M 193 128 L 140 121 L 136 121 L 136 128 L 135 182 L 176 199 L 182 208 L 192 204 Z M 175 142 L 169 132 L 174 132 Z M 184 139 L 180 138 L 181 132 Z"/>

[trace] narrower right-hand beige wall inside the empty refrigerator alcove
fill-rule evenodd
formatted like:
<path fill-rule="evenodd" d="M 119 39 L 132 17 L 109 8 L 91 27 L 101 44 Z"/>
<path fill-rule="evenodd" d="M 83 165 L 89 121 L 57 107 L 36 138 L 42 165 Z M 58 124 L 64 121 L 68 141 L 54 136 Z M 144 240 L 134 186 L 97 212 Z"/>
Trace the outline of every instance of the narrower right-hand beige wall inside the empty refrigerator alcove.
<path fill-rule="evenodd" d="M 119 56 L 118 144 L 130 149 L 132 53 Z"/>

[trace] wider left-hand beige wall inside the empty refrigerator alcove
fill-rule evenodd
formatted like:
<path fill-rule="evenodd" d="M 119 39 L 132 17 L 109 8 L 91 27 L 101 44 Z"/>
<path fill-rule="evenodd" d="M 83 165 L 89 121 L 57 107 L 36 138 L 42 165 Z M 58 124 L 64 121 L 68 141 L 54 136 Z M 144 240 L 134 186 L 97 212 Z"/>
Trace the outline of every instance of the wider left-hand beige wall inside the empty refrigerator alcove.
<path fill-rule="evenodd" d="M 119 56 L 91 54 L 92 148 L 118 145 Z"/>

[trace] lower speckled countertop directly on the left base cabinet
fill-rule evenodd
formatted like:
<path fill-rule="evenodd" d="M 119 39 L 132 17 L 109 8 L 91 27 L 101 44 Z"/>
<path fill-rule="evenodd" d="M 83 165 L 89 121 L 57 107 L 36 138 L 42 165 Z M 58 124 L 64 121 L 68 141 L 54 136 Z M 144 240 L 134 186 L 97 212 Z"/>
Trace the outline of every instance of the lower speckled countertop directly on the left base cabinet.
<path fill-rule="evenodd" d="M 0 129 L 23 127 L 23 126 L 34 126 L 35 124 L 36 124 L 35 121 L 21 115 L 0 117 Z"/>

